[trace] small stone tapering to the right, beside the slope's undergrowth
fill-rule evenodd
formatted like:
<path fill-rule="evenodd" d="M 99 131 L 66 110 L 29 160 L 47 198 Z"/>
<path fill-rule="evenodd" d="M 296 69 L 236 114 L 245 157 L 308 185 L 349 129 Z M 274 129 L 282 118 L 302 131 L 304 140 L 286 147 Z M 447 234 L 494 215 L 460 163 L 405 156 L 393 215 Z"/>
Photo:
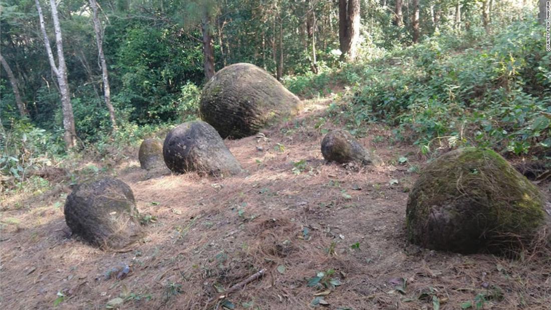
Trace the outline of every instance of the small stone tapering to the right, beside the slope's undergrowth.
<path fill-rule="evenodd" d="M 382 165 L 379 156 L 366 151 L 352 134 L 341 129 L 331 130 L 323 137 L 321 154 L 327 161 L 339 164 L 358 162 L 362 165 Z"/>

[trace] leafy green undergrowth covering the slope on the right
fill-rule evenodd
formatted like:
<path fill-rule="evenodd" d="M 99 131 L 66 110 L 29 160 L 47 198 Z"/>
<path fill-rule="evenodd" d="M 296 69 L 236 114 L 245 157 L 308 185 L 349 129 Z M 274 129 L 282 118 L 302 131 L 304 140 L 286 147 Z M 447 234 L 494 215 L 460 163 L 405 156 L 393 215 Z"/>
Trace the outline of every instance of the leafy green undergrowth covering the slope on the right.
<path fill-rule="evenodd" d="M 544 29 L 520 21 L 493 36 L 476 31 L 431 37 L 369 63 L 287 80 L 302 96 L 351 85 L 333 116 L 362 133 L 368 123 L 424 154 L 477 145 L 501 153 L 549 156 L 551 58 Z M 364 132 L 365 134 L 365 132 Z"/>

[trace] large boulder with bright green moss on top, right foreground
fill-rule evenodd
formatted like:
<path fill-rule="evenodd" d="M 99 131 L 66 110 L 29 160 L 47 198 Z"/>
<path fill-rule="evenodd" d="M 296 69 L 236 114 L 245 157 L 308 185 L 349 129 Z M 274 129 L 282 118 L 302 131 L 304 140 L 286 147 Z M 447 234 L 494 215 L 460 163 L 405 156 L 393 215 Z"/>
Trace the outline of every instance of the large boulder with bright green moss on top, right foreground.
<path fill-rule="evenodd" d="M 409 194 L 409 240 L 460 253 L 514 250 L 544 222 L 541 194 L 499 154 L 463 148 L 438 157 Z"/>

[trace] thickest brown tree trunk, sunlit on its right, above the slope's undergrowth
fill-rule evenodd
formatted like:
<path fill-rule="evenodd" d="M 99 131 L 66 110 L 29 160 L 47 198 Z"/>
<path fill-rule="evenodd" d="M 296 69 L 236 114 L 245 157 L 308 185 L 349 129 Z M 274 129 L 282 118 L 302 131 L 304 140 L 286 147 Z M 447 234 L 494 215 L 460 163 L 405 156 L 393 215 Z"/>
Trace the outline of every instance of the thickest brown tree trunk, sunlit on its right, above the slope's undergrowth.
<path fill-rule="evenodd" d="M 341 58 L 356 58 L 360 37 L 360 0 L 339 0 L 339 46 Z"/>

